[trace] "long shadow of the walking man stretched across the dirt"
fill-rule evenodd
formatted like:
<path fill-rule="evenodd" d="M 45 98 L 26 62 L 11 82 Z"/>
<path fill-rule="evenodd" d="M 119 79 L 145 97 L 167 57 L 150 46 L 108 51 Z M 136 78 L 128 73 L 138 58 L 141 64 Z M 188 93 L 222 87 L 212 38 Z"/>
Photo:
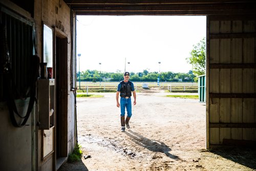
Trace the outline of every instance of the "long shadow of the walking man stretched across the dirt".
<path fill-rule="evenodd" d="M 170 154 L 169 152 L 172 151 L 172 149 L 170 149 L 170 147 L 168 147 L 161 141 L 148 139 L 148 138 L 143 137 L 142 135 L 139 135 L 138 133 L 135 133 L 131 130 L 129 130 L 128 132 L 125 132 L 125 134 L 128 135 L 129 137 L 131 137 L 131 139 L 136 144 L 141 145 L 142 147 L 147 148 L 152 152 L 164 153 L 169 158 L 172 158 L 175 160 L 180 160 L 180 158 L 178 156 Z"/>

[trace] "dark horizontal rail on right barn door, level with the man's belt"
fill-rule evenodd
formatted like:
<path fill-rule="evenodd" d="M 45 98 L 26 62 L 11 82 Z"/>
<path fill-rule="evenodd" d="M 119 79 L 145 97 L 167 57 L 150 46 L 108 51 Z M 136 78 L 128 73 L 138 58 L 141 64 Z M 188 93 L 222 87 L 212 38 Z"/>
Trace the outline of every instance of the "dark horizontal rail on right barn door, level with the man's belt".
<path fill-rule="evenodd" d="M 256 93 L 209 93 L 209 98 L 256 98 Z"/>

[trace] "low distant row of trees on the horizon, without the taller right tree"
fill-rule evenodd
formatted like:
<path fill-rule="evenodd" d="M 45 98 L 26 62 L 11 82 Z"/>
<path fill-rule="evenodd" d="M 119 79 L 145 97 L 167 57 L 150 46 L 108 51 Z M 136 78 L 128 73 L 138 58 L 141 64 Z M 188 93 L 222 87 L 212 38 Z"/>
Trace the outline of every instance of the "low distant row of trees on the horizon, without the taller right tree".
<path fill-rule="evenodd" d="M 174 73 L 174 72 L 148 72 L 143 70 L 143 72 L 130 73 L 131 81 L 157 81 L 160 78 L 160 81 L 185 81 L 185 82 L 194 82 L 196 76 L 192 71 L 188 73 Z M 77 73 L 77 81 L 79 80 L 79 72 Z M 99 72 L 97 70 L 86 70 L 80 72 L 80 81 L 121 81 L 123 80 L 123 73 L 117 71 L 116 73 L 112 72 Z"/>

